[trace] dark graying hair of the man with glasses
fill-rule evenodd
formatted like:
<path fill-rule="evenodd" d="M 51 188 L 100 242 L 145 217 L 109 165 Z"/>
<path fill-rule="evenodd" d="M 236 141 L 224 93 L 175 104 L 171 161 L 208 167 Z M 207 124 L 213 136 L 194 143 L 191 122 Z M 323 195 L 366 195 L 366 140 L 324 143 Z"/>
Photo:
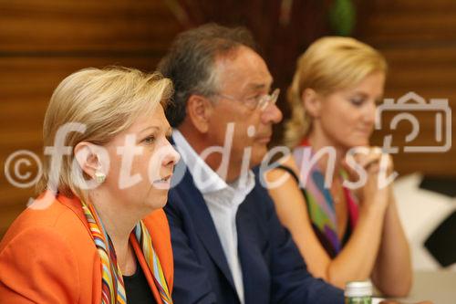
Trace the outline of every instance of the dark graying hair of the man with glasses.
<path fill-rule="evenodd" d="M 192 94 L 210 97 L 219 91 L 215 59 L 241 46 L 256 50 L 254 38 L 245 27 L 207 24 L 174 39 L 158 67 L 174 84 L 173 102 L 166 110 L 172 127 L 178 127 L 185 119 L 187 100 Z"/>

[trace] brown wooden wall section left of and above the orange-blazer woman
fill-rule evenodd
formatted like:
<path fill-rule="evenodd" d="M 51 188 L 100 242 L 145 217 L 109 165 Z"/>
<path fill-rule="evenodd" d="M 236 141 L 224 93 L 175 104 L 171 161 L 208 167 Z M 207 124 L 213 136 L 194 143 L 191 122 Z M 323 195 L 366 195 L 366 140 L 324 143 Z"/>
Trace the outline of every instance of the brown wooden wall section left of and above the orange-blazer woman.
<path fill-rule="evenodd" d="M 111 65 L 153 70 L 180 30 L 160 0 L 0 1 L 0 162 L 22 149 L 43 157 L 47 102 L 67 75 Z M 2 173 L 0 194 L 1 237 L 35 189 L 16 188 Z"/>

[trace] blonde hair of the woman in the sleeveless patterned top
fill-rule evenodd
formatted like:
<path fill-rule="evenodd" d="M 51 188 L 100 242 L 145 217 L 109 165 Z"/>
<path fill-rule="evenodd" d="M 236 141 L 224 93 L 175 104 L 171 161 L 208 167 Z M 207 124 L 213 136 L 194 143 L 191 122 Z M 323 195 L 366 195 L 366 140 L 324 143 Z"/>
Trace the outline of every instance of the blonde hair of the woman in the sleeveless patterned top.
<path fill-rule="evenodd" d="M 285 124 L 285 145 L 295 148 L 311 128 L 304 107 L 305 89 L 327 96 L 339 89 L 356 86 L 375 72 L 387 72 L 385 58 L 373 47 L 350 37 L 317 39 L 297 60 L 295 76 L 287 91 L 291 118 Z"/>

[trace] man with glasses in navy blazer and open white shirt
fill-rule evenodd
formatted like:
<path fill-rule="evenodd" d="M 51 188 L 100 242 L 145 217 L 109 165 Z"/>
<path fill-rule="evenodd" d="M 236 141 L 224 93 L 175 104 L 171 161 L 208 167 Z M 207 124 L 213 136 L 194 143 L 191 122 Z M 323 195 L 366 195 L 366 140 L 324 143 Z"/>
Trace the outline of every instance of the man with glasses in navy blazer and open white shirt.
<path fill-rule="evenodd" d="M 178 164 L 165 207 L 176 303 L 343 303 L 306 270 L 255 166 L 282 120 L 278 89 L 244 28 L 181 33 L 159 69 L 174 83 L 167 118 Z M 186 170 L 188 169 L 188 170 Z"/>

